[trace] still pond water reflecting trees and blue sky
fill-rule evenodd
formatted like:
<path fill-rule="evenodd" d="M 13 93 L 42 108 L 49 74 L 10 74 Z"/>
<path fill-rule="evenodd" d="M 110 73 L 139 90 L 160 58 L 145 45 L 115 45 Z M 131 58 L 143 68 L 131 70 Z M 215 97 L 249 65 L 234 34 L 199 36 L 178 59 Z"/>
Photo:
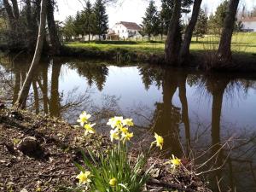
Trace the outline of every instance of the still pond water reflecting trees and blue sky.
<path fill-rule="evenodd" d="M 1 58 L 0 101 L 15 102 L 30 61 Z M 168 155 L 194 158 L 213 191 L 256 191 L 256 74 L 44 58 L 26 106 L 72 124 L 86 110 L 99 129 L 124 115 L 137 141 L 157 132 Z"/>

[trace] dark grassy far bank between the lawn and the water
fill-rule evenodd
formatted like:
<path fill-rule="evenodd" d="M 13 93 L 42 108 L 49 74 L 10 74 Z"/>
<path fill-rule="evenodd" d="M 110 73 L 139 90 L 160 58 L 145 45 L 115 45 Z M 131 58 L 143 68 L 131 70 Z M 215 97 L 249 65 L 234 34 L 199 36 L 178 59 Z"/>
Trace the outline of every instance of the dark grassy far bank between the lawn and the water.
<path fill-rule="evenodd" d="M 95 48 L 77 48 L 64 46 L 61 49 L 61 56 L 69 56 L 76 58 L 102 59 L 125 63 L 149 63 L 167 65 L 165 63 L 165 55 L 152 53 L 143 53 L 133 51 L 132 49 L 116 48 L 109 50 L 101 50 Z M 232 72 L 253 72 L 256 71 L 256 53 L 244 54 L 234 53 L 233 62 L 218 65 L 217 55 L 210 51 L 192 51 L 187 64 L 183 67 L 192 67 L 201 69 L 202 71 L 232 71 Z M 216 67 L 215 67 L 216 66 Z"/>

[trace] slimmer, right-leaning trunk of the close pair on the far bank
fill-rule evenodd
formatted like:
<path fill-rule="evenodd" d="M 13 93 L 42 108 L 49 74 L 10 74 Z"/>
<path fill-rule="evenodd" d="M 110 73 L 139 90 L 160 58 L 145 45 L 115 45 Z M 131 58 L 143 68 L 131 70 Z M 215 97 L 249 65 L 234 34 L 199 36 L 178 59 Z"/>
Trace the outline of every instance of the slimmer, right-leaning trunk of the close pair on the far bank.
<path fill-rule="evenodd" d="M 189 21 L 189 26 L 187 26 L 187 28 L 186 28 L 186 31 L 184 34 L 184 39 L 183 39 L 183 44 L 181 46 L 180 53 L 179 53 L 180 64 L 183 64 L 185 61 L 189 60 L 189 48 L 190 48 L 190 44 L 191 44 L 193 31 L 195 29 L 197 18 L 198 18 L 199 12 L 200 12 L 201 2 L 202 2 L 202 0 L 195 0 L 195 2 L 194 2 L 191 20 Z"/>

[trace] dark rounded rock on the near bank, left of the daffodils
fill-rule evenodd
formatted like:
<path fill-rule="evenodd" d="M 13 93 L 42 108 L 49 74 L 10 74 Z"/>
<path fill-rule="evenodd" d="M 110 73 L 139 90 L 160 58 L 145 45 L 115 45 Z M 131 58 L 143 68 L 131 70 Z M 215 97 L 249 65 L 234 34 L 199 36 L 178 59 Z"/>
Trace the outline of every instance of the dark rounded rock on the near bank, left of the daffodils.
<path fill-rule="evenodd" d="M 44 149 L 38 143 L 35 137 L 25 137 L 18 144 L 17 148 L 29 157 L 42 158 L 44 157 Z"/>

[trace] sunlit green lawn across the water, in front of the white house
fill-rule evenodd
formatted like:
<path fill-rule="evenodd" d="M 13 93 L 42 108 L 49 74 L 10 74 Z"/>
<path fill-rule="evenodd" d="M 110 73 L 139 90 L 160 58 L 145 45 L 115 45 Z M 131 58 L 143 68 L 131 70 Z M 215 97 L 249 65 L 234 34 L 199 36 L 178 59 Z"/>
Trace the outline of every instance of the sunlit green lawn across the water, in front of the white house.
<path fill-rule="evenodd" d="M 192 39 L 190 46 L 191 51 L 203 51 L 208 49 L 218 49 L 218 37 L 207 35 L 205 38 Z M 163 54 L 165 49 L 164 41 L 151 41 L 151 42 L 136 42 L 136 41 L 102 41 L 81 43 L 72 42 L 67 43 L 69 47 L 84 48 L 84 49 L 97 49 L 108 51 L 111 49 L 127 49 L 130 51 L 137 51 L 143 54 Z M 238 33 L 233 36 L 232 49 L 235 52 L 255 54 L 256 53 L 256 32 Z"/>

